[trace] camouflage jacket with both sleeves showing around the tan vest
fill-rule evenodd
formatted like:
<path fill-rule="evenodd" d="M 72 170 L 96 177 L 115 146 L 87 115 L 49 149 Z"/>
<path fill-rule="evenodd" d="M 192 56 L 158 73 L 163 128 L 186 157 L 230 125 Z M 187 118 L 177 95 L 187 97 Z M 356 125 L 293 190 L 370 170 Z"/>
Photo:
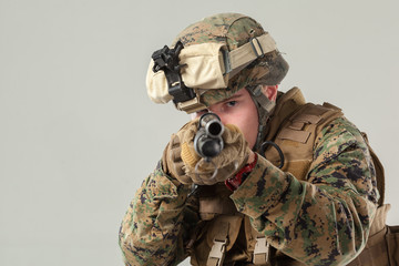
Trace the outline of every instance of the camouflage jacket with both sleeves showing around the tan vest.
<path fill-rule="evenodd" d="M 310 165 L 301 181 L 259 156 L 231 198 L 279 252 L 306 265 L 345 265 L 365 246 L 378 205 L 372 160 L 356 126 L 338 117 L 317 135 Z M 190 192 L 158 163 L 122 222 L 125 265 L 177 265 L 188 256 L 200 221 Z"/>

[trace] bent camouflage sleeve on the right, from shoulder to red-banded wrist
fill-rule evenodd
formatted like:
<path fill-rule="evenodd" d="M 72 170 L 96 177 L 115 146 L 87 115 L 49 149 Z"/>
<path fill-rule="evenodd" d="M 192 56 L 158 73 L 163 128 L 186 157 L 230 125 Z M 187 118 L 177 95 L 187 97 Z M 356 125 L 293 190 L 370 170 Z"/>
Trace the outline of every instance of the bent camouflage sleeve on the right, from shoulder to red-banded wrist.
<path fill-rule="evenodd" d="M 278 250 L 306 265 L 345 265 L 366 245 L 379 195 L 360 132 L 337 119 L 317 136 L 307 181 L 259 156 L 231 197 Z"/>

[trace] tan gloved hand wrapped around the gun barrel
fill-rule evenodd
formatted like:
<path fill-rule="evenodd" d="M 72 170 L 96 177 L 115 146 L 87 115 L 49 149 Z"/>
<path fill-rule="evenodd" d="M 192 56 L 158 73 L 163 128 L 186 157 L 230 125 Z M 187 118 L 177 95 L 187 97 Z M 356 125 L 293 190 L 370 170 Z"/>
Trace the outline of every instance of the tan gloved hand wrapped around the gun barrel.
<path fill-rule="evenodd" d="M 164 167 L 166 166 L 166 171 L 181 183 L 213 185 L 229 178 L 246 164 L 250 149 L 237 126 L 225 125 L 222 135 L 224 149 L 212 158 L 212 162 L 206 162 L 195 152 L 194 136 L 197 130 L 198 120 L 188 122 L 172 135 L 164 151 Z M 215 166 L 217 173 L 213 176 Z"/>

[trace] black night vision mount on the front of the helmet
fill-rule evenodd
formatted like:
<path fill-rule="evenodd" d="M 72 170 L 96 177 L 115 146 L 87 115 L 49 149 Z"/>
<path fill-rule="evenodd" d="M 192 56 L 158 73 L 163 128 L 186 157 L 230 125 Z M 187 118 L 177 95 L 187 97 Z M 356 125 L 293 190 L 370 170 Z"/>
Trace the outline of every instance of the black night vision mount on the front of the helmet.
<path fill-rule="evenodd" d="M 196 96 L 194 90 L 184 84 L 180 72 L 183 66 L 186 66 L 186 64 L 182 65 L 178 62 L 178 54 L 183 48 L 183 43 L 177 41 L 173 49 L 164 45 L 164 48 L 156 50 L 151 57 L 154 60 L 154 73 L 160 70 L 164 71 L 168 94 L 173 96 L 173 102 L 175 104 L 186 102 Z"/>

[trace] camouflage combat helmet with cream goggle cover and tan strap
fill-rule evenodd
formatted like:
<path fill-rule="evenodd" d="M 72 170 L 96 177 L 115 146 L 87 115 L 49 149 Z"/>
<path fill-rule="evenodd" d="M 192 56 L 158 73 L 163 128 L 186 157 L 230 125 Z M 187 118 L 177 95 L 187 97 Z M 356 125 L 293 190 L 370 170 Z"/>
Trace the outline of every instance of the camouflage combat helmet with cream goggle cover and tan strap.
<path fill-rule="evenodd" d="M 176 49 L 178 42 L 183 44 L 177 54 L 182 66 L 178 68 L 180 81 L 194 90 L 192 95 L 195 99 L 175 101 L 170 93 L 171 83 L 167 84 L 165 74 L 154 70 L 154 57 L 147 71 L 146 85 L 154 102 L 166 103 L 174 100 L 176 108 L 187 113 L 206 109 L 243 88 L 276 85 L 288 71 L 287 62 L 268 32 L 244 14 L 221 13 L 205 18 L 184 29 L 172 47 Z M 208 51 L 209 47 L 216 49 L 216 53 Z M 209 55 L 218 60 L 209 60 Z M 215 72 L 222 73 L 217 82 Z"/>

